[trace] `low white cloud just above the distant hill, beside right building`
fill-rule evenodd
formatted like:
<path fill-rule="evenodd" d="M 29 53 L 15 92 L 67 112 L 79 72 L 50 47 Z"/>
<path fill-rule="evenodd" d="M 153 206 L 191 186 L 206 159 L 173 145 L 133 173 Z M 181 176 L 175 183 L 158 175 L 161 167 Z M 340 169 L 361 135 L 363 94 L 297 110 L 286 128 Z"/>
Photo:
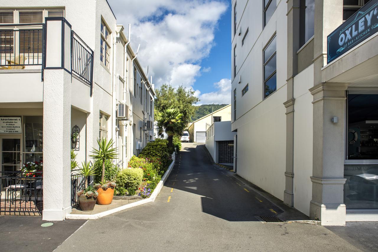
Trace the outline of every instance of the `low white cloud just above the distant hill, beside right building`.
<path fill-rule="evenodd" d="M 197 105 L 231 103 L 231 79 L 222 79 L 219 82 L 215 82 L 214 87 L 217 91 L 210 93 L 201 94 L 199 90 L 195 91 L 195 95 L 200 98 L 200 102 Z"/>

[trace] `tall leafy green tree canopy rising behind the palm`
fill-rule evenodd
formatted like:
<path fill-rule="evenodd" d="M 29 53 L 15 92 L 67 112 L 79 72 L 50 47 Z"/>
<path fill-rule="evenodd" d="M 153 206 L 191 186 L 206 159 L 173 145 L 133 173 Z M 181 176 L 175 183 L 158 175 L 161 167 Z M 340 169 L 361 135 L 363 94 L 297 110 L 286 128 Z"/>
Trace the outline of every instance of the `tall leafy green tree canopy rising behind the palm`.
<path fill-rule="evenodd" d="M 186 128 L 189 122 L 191 122 L 191 117 L 197 110 L 194 104 L 199 101 L 198 97 L 194 96 L 194 90 L 192 88 L 189 89 L 184 86 L 174 88 L 172 85 L 163 84 L 160 88 L 156 89 L 156 121 L 159 121 L 159 115 L 162 111 L 177 108 L 180 114 L 182 114 L 181 122 L 183 128 Z"/>

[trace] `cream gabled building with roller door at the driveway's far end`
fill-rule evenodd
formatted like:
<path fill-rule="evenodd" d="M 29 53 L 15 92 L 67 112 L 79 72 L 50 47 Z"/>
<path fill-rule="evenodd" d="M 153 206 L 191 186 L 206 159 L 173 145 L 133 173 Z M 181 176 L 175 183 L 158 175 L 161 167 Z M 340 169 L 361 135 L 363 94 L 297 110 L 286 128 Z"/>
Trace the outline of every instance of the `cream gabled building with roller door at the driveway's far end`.
<path fill-rule="evenodd" d="M 231 120 L 231 104 L 207 114 L 189 125 L 189 141 L 206 142 L 206 130 L 213 122 L 223 122 Z"/>

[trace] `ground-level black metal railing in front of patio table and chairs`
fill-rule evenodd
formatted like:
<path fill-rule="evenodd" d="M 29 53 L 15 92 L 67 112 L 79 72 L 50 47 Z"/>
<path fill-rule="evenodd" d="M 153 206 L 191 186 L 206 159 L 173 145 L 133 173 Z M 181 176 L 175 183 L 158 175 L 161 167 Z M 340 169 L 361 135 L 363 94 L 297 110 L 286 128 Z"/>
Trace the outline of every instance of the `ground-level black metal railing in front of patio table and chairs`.
<path fill-rule="evenodd" d="M 0 214 L 41 215 L 42 172 L 0 172 Z"/>

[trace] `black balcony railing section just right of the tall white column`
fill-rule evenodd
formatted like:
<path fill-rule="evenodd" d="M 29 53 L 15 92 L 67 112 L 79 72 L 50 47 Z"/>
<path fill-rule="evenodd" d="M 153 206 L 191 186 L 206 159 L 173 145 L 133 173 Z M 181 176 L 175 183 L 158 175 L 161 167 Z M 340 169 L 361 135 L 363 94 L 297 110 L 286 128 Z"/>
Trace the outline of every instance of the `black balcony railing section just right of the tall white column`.
<path fill-rule="evenodd" d="M 92 85 L 93 50 L 74 31 L 72 31 L 71 37 L 72 73 Z"/>

